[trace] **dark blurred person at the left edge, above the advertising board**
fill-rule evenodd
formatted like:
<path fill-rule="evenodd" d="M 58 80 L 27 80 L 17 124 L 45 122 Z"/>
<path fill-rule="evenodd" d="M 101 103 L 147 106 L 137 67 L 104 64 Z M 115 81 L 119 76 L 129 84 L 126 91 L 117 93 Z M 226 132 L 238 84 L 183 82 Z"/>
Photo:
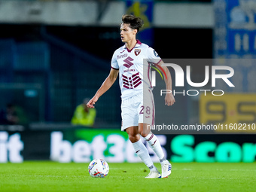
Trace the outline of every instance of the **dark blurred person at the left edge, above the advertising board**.
<path fill-rule="evenodd" d="M 25 111 L 18 105 L 9 103 L 5 110 L 0 112 L 0 123 L 5 125 L 24 125 L 29 123 Z"/>

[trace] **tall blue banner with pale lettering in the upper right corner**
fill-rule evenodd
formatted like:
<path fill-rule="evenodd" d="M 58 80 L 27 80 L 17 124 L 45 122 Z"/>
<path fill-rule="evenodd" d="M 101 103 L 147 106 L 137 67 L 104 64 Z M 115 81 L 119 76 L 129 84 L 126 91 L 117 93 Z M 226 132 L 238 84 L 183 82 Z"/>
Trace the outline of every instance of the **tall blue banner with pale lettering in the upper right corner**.
<path fill-rule="evenodd" d="M 215 0 L 215 65 L 231 66 L 235 92 L 256 91 L 256 0 Z"/>

